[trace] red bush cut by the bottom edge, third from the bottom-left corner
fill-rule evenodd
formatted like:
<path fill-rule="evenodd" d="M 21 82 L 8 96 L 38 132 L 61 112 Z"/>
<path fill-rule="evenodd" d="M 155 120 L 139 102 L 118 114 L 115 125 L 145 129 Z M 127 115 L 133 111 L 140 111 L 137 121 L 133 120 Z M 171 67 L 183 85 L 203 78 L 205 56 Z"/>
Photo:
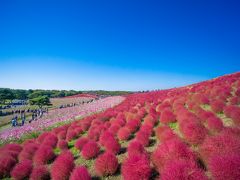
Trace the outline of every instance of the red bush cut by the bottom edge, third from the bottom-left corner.
<path fill-rule="evenodd" d="M 46 166 L 36 166 L 30 175 L 30 180 L 50 180 L 50 173 Z"/>

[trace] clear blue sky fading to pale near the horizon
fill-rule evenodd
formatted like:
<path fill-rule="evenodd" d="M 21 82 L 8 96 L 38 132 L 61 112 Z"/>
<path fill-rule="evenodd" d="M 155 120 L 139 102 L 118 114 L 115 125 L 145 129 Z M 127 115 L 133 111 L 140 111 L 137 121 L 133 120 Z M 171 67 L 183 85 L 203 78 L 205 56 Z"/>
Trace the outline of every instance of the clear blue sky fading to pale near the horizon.
<path fill-rule="evenodd" d="M 240 70 L 238 0 L 1 0 L 0 87 L 146 90 Z"/>

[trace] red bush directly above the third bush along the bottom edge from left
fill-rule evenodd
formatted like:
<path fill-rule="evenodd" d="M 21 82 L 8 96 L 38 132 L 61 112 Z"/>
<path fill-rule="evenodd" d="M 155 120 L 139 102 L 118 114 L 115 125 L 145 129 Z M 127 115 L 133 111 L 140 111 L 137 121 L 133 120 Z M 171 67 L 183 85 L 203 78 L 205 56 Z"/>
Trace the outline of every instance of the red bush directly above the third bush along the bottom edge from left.
<path fill-rule="evenodd" d="M 35 165 L 47 164 L 49 161 L 55 158 L 55 154 L 51 146 L 42 145 L 35 152 L 33 162 Z"/>

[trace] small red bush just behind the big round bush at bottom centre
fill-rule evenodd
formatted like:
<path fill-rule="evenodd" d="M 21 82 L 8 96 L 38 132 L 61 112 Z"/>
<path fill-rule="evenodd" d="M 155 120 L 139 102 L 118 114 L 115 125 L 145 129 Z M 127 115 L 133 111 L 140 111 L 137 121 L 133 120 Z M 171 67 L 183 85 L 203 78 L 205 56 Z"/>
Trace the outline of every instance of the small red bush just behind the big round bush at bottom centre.
<path fill-rule="evenodd" d="M 147 155 L 144 146 L 138 141 L 131 141 L 127 148 L 128 156 Z"/>

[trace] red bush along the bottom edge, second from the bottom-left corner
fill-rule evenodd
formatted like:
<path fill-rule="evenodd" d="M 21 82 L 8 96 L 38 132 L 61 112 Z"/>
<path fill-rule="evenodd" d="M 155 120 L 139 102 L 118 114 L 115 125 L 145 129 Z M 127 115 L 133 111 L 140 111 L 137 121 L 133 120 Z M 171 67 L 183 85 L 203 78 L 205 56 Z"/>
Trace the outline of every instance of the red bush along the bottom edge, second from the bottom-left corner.
<path fill-rule="evenodd" d="M 11 177 L 15 180 L 27 179 L 32 172 L 32 161 L 23 160 L 11 171 Z"/>

